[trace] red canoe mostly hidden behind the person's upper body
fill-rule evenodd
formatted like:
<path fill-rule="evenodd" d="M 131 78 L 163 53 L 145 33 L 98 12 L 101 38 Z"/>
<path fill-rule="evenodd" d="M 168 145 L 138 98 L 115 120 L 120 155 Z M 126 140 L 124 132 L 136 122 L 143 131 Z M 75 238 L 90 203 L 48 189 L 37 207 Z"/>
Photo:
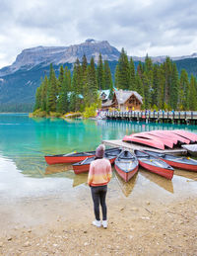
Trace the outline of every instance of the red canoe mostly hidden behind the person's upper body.
<path fill-rule="evenodd" d="M 116 157 L 117 157 L 116 155 L 107 155 L 107 156 L 105 156 L 105 158 L 107 158 L 110 161 L 111 164 L 114 163 Z M 94 160 L 95 160 L 95 156 L 91 157 L 91 158 L 87 158 L 84 161 L 81 161 L 79 163 L 74 163 L 73 164 L 73 170 L 74 170 L 75 174 L 88 172 L 89 168 L 90 168 L 90 164 Z"/>

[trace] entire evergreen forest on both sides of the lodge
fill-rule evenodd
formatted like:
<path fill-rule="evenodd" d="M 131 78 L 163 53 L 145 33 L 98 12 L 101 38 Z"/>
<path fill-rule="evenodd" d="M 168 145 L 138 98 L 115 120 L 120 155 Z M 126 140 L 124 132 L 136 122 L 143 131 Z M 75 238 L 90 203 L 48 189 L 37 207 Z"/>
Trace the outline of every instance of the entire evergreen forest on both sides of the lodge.
<path fill-rule="evenodd" d="M 76 60 L 71 71 L 60 66 L 56 77 L 52 64 L 49 77 L 41 80 L 36 90 L 34 111 L 46 113 L 84 112 L 87 108 L 100 108 L 99 90 L 116 89 L 137 91 L 143 97 L 142 109 L 197 110 L 197 80 L 188 76 L 185 69 L 178 74 L 176 64 L 166 57 L 164 63 L 153 63 L 147 55 L 135 69 L 124 48 L 115 68 L 114 82 L 108 61 L 88 64 L 86 55 L 82 62 Z"/>

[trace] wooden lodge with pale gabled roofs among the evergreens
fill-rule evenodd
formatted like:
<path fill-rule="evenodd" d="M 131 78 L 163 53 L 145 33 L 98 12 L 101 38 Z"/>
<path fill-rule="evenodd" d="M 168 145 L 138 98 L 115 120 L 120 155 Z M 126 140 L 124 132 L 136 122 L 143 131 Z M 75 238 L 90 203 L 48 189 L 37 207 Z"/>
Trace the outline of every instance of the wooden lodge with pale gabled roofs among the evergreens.
<path fill-rule="evenodd" d="M 115 90 L 112 100 L 106 97 L 106 94 L 100 94 L 102 110 L 112 108 L 119 111 L 140 111 L 143 104 L 142 96 L 135 91 Z"/>

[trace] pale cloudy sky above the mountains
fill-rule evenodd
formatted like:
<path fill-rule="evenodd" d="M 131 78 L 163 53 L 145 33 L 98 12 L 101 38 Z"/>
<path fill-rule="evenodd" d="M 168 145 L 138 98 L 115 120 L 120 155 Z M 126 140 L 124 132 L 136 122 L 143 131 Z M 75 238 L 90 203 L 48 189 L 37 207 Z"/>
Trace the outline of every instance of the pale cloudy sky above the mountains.
<path fill-rule="evenodd" d="M 195 0 L 0 0 L 0 67 L 24 48 L 106 40 L 128 55 L 197 52 Z"/>

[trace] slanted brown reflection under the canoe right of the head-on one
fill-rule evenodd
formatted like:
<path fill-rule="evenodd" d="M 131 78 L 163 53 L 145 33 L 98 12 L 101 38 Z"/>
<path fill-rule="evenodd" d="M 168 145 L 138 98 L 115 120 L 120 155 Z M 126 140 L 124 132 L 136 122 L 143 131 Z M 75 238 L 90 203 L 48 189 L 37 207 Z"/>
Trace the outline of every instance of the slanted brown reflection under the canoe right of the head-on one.
<path fill-rule="evenodd" d="M 151 182 L 156 183 L 158 186 L 160 186 L 164 190 L 170 193 L 173 193 L 173 183 L 171 180 L 167 180 L 164 177 L 157 175 L 155 173 L 145 171 L 142 168 L 140 168 L 140 174 L 142 174 L 142 176 L 144 176 L 146 179 L 150 180 Z"/>

